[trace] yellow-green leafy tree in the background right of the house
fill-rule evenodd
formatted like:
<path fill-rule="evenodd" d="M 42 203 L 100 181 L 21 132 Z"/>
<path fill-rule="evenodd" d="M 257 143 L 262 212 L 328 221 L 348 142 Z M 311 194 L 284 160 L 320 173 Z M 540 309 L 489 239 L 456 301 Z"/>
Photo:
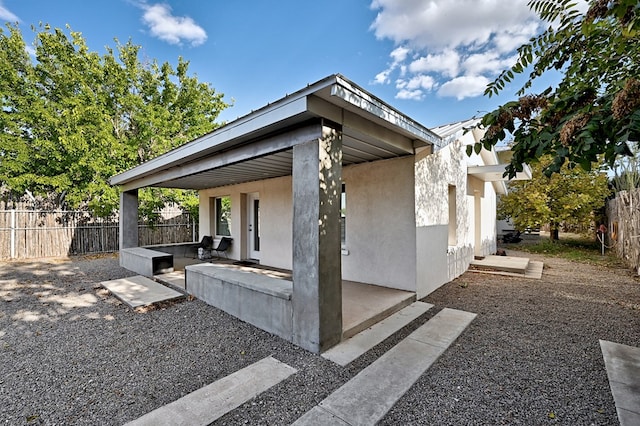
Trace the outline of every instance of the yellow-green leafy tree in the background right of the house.
<path fill-rule="evenodd" d="M 561 224 L 588 225 L 610 190 L 606 174 L 568 164 L 548 177 L 543 171 L 552 161 L 552 156 L 543 156 L 532 164 L 531 180 L 509 183 L 509 193 L 500 197 L 498 216 L 510 218 L 517 229 L 549 224 L 551 239 L 557 240 Z"/>

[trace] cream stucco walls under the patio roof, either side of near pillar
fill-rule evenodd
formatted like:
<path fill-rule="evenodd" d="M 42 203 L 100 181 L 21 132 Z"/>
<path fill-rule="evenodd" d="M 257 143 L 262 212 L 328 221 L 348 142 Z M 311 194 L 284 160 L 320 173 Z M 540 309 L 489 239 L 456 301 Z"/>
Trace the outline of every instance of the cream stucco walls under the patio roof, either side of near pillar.
<path fill-rule="evenodd" d="M 347 193 L 343 279 L 415 291 L 413 157 L 344 167 L 342 176 Z M 228 195 L 234 238 L 229 256 L 246 258 L 243 194 L 252 192 L 260 194 L 260 263 L 291 269 L 290 176 L 200 191 L 200 238 L 214 227 L 211 199 Z"/>

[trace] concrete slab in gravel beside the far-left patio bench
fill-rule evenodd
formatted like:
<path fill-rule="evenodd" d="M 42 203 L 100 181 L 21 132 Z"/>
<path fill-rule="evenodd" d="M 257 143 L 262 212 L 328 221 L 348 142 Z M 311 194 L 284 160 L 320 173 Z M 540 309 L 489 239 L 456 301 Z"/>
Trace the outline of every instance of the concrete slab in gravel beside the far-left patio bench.
<path fill-rule="evenodd" d="M 184 297 L 184 294 L 141 275 L 102 281 L 100 285 L 131 308 Z"/>

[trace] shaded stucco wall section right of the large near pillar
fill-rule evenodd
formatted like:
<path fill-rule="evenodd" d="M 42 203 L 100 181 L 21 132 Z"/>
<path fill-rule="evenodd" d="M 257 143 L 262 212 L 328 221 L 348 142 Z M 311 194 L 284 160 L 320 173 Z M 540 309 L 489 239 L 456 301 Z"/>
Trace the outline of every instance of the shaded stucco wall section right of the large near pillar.
<path fill-rule="evenodd" d="M 346 187 L 345 280 L 415 291 L 413 157 L 342 171 Z"/>

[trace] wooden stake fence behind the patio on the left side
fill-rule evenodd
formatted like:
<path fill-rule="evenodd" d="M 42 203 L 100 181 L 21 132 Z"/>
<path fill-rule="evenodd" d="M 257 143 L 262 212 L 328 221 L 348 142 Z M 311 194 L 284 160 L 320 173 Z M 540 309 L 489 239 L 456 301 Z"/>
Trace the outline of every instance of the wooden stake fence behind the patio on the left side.
<path fill-rule="evenodd" d="M 181 210 L 163 210 L 138 224 L 138 245 L 195 241 L 198 224 Z M 118 251 L 118 218 L 86 211 L 0 210 L 0 259 L 28 259 Z"/>

